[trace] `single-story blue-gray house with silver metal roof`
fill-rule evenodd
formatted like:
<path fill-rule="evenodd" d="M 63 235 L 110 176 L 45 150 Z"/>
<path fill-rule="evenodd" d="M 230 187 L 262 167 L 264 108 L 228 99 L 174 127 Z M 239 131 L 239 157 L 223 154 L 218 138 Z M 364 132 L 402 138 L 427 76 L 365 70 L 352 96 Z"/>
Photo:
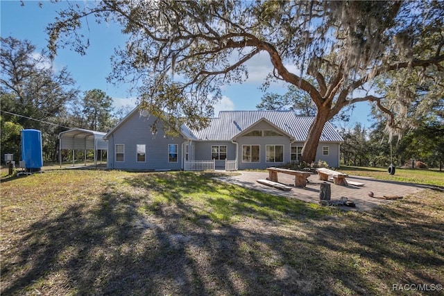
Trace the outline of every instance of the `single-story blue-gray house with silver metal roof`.
<path fill-rule="evenodd" d="M 314 120 L 292 111 L 222 111 L 203 130 L 180 127 L 169 137 L 156 118 L 136 107 L 103 139 L 108 141 L 108 168 L 130 170 L 246 169 L 279 166 L 301 157 L 302 146 Z M 330 123 L 325 125 L 316 152 L 329 166 L 339 166 L 343 139 Z"/>

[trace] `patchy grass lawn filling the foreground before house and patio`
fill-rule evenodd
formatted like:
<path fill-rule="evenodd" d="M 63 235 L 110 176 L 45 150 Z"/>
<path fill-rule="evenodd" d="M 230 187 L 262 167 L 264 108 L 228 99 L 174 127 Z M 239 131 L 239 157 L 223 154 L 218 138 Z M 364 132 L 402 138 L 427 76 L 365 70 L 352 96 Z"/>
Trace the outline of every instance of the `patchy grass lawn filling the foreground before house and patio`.
<path fill-rule="evenodd" d="M 213 176 L 2 180 L 2 295 L 402 295 L 394 284 L 444 283 L 441 191 L 358 213 Z"/>

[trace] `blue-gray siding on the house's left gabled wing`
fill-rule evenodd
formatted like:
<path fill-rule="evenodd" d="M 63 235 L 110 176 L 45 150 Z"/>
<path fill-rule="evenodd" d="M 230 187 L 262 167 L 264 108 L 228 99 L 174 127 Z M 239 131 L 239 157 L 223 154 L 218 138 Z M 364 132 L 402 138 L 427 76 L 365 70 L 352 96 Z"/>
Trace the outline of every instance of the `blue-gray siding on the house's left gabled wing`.
<path fill-rule="evenodd" d="M 108 139 L 108 168 L 135 170 L 180 170 L 182 168 L 182 136 L 164 137 L 162 123 L 157 123 L 157 134 L 151 134 L 153 116 L 140 116 L 135 112 Z M 124 161 L 116 162 L 114 148 L 117 144 L 125 145 Z M 137 144 L 146 147 L 145 162 L 137 162 Z M 169 162 L 168 145 L 178 145 L 178 162 Z"/>

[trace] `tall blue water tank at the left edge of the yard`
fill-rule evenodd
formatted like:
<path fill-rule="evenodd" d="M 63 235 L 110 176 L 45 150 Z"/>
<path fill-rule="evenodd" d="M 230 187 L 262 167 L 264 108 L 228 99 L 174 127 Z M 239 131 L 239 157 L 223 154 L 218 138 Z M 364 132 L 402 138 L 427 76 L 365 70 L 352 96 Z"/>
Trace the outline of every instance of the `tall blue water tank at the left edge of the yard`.
<path fill-rule="evenodd" d="M 25 167 L 40 171 L 43 166 L 42 132 L 40 130 L 22 130 L 22 160 Z"/>

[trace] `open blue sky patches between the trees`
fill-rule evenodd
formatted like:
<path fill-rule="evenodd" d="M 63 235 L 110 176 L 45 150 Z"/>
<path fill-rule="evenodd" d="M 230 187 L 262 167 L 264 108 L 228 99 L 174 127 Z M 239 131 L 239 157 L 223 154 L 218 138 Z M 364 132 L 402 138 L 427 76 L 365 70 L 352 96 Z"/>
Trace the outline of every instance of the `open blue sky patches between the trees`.
<path fill-rule="evenodd" d="M 1 36 L 29 40 L 39 50 L 46 48 L 48 36 L 44 29 L 56 17 L 56 12 L 66 7 L 67 3 L 42 1 L 42 4 L 40 7 L 38 1 L 25 1 L 25 6 L 21 6 L 20 1 L 1 0 Z M 83 2 L 79 1 L 79 4 L 82 5 Z M 93 19 L 89 19 L 89 29 L 87 34 L 90 46 L 87 54 L 82 56 L 71 49 L 60 49 L 53 65 L 56 69 L 66 66 L 72 78 L 76 80 L 76 86 L 82 92 L 102 89 L 114 99 L 115 107 L 135 105 L 137 103 L 135 94 L 128 93 L 128 85 L 115 86 L 106 81 L 106 76 L 111 71 L 110 57 L 115 48 L 125 45 L 126 36 L 116 24 L 96 24 Z M 215 114 L 220 110 L 255 110 L 264 95 L 259 86 L 270 70 L 271 62 L 265 53 L 250 60 L 248 80 L 241 85 L 228 85 L 223 89 L 223 99 L 215 107 Z M 268 92 L 284 94 L 286 90 L 287 86 L 282 84 L 273 85 Z M 370 105 L 366 102 L 355 105 L 350 123 L 344 126 L 352 128 L 355 122 L 370 126 L 371 122 L 368 120 Z"/>

